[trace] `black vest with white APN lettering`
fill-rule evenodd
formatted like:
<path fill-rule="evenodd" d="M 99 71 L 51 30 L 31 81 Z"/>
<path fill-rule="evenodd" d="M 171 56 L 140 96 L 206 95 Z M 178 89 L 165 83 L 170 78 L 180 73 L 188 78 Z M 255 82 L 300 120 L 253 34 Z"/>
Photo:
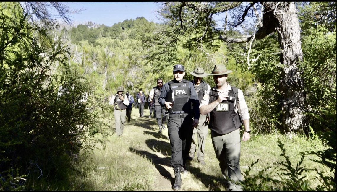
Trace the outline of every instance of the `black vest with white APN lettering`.
<path fill-rule="evenodd" d="M 234 97 L 233 90 L 229 90 L 228 97 Z M 213 89 L 210 91 L 210 101 L 212 103 L 218 98 L 218 92 Z M 241 126 L 239 116 L 235 112 L 234 101 L 224 100 L 218 104 L 210 113 L 208 127 L 220 134 L 227 134 Z"/>

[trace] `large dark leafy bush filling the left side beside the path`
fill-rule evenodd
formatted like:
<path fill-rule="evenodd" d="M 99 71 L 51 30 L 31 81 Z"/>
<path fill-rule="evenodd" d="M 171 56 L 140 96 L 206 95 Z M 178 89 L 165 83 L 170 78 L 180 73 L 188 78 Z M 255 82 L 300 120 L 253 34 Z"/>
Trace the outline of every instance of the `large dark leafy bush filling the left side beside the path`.
<path fill-rule="evenodd" d="M 53 26 L 30 25 L 28 15 L 0 8 L 0 186 L 18 190 L 26 179 L 64 178 L 102 130 L 90 84 L 68 66 L 67 47 L 44 30 Z"/>

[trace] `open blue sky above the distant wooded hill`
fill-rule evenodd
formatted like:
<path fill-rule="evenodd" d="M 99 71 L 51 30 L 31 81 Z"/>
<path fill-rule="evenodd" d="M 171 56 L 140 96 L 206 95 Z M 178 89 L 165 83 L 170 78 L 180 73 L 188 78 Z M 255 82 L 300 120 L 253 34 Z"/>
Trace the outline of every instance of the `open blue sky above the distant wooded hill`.
<path fill-rule="evenodd" d="M 74 25 L 91 21 L 96 24 L 112 26 L 124 20 L 144 17 L 159 23 L 156 18 L 161 3 L 155 2 L 64 2 L 70 9 L 83 9 L 81 13 L 71 14 Z"/>

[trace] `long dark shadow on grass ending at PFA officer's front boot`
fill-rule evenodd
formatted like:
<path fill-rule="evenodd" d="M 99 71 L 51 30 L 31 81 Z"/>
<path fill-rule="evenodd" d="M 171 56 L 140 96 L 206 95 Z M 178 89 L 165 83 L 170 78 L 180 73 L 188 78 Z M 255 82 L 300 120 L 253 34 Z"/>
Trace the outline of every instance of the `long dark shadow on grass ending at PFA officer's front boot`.
<path fill-rule="evenodd" d="M 139 156 L 145 157 L 149 159 L 149 161 L 154 165 L 154 167 L 159 171 L 160 175 L 162 175 L 165 179 L 169 180 L 173 186 L 175 179 L 171 176 L 171 173 L 168 172 L 162 165 L 171 166 L 171 158 L 170 157 L 158 157 L 155 154 L 152 154 L 147 151 L 136 150 L 134 148 L 129 148 L 130 152 L 136 153 Z"/>

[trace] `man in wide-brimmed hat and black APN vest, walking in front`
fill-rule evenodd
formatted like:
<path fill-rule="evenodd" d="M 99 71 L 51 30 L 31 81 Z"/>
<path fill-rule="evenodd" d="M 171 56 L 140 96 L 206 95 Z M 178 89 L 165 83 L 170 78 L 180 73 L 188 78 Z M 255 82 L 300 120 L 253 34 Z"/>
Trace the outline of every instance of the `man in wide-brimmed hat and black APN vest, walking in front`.
<path fill-rule="evenodd" d="M 242 187 L 237 184 L 243 180 L 240 170 L 240 119 L 245 126 L 242 140 L 247 141 L 250 138 L 250 117 L 242 91 L 226 82 L 227 75 L 231 72 L 223 64 L 214 66 L 209 75 L 213 76 L 216 87 L 209 95 L 204 95 L 200 114 L 210 115 L 208 127 L 211 129 L 212 143 L 221 172 L 228 181 L 228 189 L 242 191 Z"/>

